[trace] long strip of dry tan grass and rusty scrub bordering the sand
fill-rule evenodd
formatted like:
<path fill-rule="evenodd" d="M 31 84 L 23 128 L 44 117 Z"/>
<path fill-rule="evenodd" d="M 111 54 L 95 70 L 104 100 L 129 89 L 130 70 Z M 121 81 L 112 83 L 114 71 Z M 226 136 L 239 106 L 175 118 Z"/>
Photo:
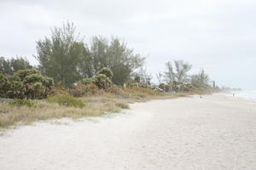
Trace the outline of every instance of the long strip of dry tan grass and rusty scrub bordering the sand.
<path fill-rule="evenodd" d="M 117 113 L 122 109 L 129 109 L 129 104 L 132 102 L 143 102 L 150 99 L 172 99 L 189 95 L 165 95 L 146 88 L 115 88 L 109 91 L 101 96 L 79 98 L 85 104 L 84 108 L 67 107 L 49 103 L 47 100 L 38 100 L 35 102 L 35 107 L 18 107 L 0 103 L 0 129 L 62 117 L 75 119 L 87 116 L 104 116 Z"/>

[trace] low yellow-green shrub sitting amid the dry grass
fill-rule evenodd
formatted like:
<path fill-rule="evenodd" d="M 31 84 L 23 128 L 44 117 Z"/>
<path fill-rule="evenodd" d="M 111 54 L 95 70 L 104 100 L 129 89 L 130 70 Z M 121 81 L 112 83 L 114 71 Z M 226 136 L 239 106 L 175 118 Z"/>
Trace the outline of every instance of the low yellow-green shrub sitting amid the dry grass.
<path fill-rule="evenodd" d="M 85 105 L 82 100 L 76 99 L 71 95 L 55 95 L 55 96 L 50 96 L 47 99 L 51 103 L 57 103 L 59 105 L 64 105 L 67 107 L 79 107 L 83 108 Z"/>

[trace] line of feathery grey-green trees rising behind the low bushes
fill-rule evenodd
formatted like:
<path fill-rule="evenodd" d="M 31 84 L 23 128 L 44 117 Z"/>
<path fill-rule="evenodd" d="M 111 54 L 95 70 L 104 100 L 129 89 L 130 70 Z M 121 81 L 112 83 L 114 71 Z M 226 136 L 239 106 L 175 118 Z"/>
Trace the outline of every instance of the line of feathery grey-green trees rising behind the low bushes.
<path fill-rule="evenodd" d="M 127 48 L 125 41 L 118 37 L 108 40 L 106 37 L 95 36 L 90 44 L 76 32 L 76 27 L 67 22 L 62 27 L 51 30 L 50 37 L 37 42 L 39 65 L 34 67 L 42 75 L 52 77 L 55 84 L 70 88 L 74 82 L 83 78 L 95 77 L 103 68 L 113 72 L 112 82 L 123 85 L 127 82 L 150 84 L 152 76 L 143 69 L 145 58 Z M 27 59 L 0 58 L 0 73 L 12 75 L 15 71 L 31 69 Z M 156 75 L 160 88 L 209 88 L 210 78 L 204 70 L 189 75 L 192 65 L 183 60 L 166 63 L 166 71 Z M 166 86 L 166 87 L 164 87 Z M 170 89 L 169 89 L 170 90 Z"/>

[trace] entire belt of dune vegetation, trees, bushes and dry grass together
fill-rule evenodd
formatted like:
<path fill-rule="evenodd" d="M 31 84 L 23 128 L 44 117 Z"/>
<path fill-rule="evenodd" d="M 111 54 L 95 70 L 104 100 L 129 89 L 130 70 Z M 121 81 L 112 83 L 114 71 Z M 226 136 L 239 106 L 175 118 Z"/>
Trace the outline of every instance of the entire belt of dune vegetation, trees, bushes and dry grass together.
<path fill-rule="evenodd" d="M 0 58 L 0 128 L 53 118 L 103 116 L 129 109 L 129 103 L 217 91 L 207 74 L 189 75 L 183 60 L 166 63 L 158 83 L 140 54 L 112 37 L 88 45 L 67 23 L 37 42 L 39 65 L 24 58 Z"/>

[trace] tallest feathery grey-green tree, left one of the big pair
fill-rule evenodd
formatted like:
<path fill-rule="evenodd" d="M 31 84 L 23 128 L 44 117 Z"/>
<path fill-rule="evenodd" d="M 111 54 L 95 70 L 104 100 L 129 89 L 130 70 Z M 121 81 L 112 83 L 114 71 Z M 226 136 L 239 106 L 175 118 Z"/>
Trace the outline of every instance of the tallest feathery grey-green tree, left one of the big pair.
<path fill-rule="evenodd" d="M 84 42 L 75 34 L 75 26 L 67 22 L 61 28 L 52 29 L 52 36 L 37 42 L 35 56 L 43 74 L 55 82 L 70 86 L 79 80 L 79 62 L 84 54 Z"/>

